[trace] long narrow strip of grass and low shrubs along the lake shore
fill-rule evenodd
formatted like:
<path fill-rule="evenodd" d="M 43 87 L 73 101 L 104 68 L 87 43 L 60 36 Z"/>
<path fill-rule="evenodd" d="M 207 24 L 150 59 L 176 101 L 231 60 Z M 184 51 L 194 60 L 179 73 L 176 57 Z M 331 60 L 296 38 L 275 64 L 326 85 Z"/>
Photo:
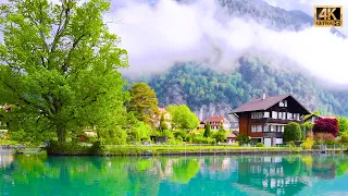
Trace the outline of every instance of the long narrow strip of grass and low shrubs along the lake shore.
<path fill-rule="evenodd" d="M 186 155 L 243 155 L 243 154 L 322 154 L 344 152 L 345 146 L 247 147 L 232 145 L 59 145 L 47 148 L 49 156 L 186 156 Z"/>

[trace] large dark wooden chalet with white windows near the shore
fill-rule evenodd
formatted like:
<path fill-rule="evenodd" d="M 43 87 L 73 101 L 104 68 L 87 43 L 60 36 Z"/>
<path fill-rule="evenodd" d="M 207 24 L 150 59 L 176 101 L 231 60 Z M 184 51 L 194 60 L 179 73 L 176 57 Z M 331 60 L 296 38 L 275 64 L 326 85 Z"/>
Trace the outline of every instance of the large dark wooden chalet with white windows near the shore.
<path fill-rule="evenodd" d="M 302 123 L 310 112 L 291 95 L 250 100 L 232 111 L 239 120 L 239 135 L 249 136 L 252 143 L 265 146 L 283 144 L 283 132 L 290 122 Z"/>

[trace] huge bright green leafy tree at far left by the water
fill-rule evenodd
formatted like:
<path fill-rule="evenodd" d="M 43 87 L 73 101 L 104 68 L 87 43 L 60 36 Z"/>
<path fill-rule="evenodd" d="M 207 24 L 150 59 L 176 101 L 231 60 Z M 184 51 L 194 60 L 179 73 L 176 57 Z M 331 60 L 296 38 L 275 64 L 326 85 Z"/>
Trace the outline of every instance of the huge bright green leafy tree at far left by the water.
<path fill-rule="evenodd" d="M 117 69 L 127 53 L 102 21 L 109 8 L 103 0 L 1 5 L 0 103 L 15 105 L 5 113 L 10 131 L 54 132 L 64 143 L 72 131 L 121 121 L 127 95 Z"/>

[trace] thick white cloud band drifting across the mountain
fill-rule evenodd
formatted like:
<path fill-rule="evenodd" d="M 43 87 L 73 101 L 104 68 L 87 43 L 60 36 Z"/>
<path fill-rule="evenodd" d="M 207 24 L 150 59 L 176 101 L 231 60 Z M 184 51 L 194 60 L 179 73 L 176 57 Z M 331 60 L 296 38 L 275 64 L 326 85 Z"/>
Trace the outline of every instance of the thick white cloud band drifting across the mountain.
<path fill-rule="evenodd" d="M 214 0 L 160 0 L 154 5 L 128 0 L 113 4 L 105 21 L 129 53 L 128 76 L 160 73 L 187 61 L 231 69 L 236 59 L 254 51 L 289 58 L 320 78 L 348 84 L 348 40 L 328 28 L 274 32 L 243 19 L 226 20 L 223 12 Z"/>

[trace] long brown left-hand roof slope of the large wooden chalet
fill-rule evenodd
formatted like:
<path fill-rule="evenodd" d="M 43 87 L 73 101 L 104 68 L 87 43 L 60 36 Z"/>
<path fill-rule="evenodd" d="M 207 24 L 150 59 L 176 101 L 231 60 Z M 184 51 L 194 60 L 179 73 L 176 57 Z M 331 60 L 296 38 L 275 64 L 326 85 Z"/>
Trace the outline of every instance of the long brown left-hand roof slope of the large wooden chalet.
<path fill-rule="evenodd" d="M 273 96 L 273 97 L 265 97 L 263 100 L 252 99 L 249 102 L 241 105 L 239 108 L 232 111 L 232 113 L 237 112 L 246 112 L 246 111 L 257 111 L 257 110 L 266 110 L 270 107 L 276 105 L 277 102 L 282 101 L 283 99 L 289 97 L 290 95 L 281 95 L 281 96 Z"/>

